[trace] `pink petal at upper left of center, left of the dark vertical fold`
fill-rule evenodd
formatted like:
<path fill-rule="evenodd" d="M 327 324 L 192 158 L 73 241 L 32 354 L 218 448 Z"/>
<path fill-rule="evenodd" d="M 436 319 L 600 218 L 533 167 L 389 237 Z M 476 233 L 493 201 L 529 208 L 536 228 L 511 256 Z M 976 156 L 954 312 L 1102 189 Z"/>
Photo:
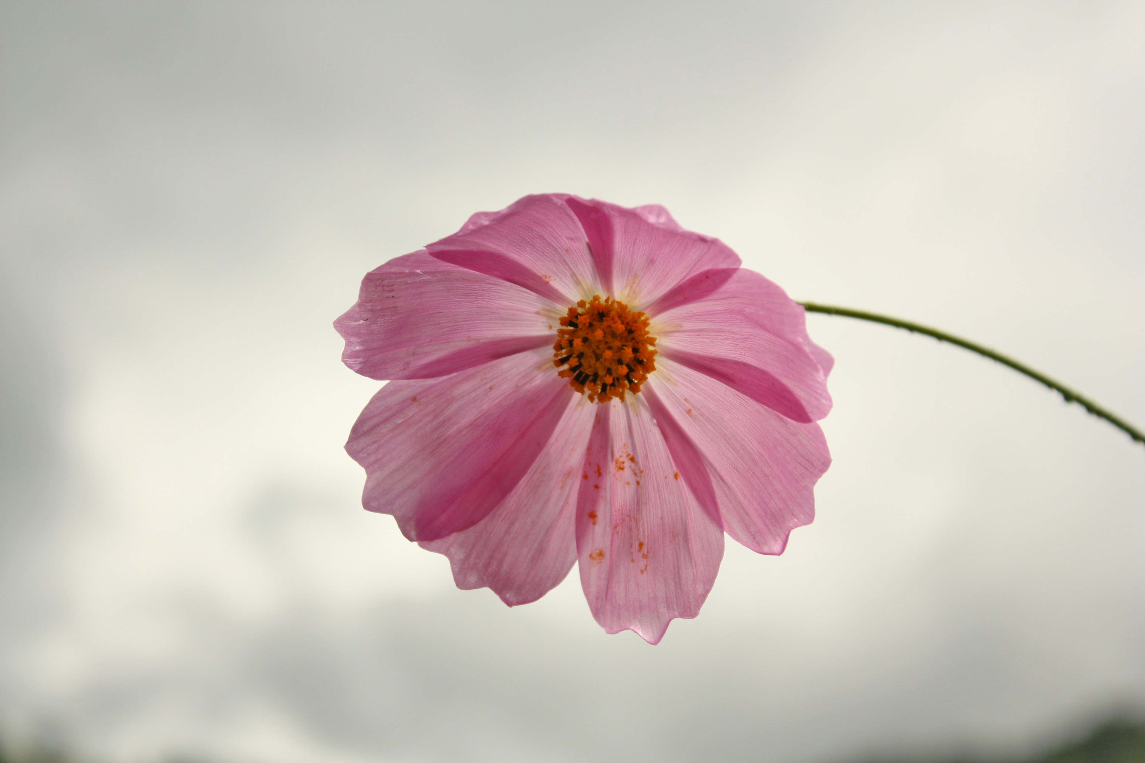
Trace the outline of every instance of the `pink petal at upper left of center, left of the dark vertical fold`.
<path fill-rule="evenodd" d="M 589 241 L 567 198 L 564 194 L 526 196 L 500 212 L 474 215 L 461 230 L 426 249 L 431 254 L 466 252 L 465 267 L 498 277 L 508 274 L 513 283 L 522 283 L 522 274 L 531 273 L 551 285 L 567 307 L 584 296 L 601 293 Z M 506 259 L 516 268 L 510 270 Z"/>

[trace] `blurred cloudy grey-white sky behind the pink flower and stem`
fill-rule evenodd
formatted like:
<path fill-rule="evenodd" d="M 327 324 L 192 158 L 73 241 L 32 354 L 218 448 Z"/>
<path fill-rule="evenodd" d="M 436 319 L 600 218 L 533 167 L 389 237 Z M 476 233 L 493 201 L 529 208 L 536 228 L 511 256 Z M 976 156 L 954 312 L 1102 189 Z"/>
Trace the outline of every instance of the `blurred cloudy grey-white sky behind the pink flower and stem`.
<path fill-rule="evenodd" d="M 1145 449 L 926 338 L 808 316 L 837 359 L 818 518 L 782 557 L 729 544 L 656 647 L 605 635 L 575 573 L 510 609 L 363 511 L 342 443 L 378 383 L 331 322 L 369 269 L 540 191 L 664 204 L 797 299 L 1145 424 L 1140 2 L 5 0 L 8 755 L 1132 737 Z"/>

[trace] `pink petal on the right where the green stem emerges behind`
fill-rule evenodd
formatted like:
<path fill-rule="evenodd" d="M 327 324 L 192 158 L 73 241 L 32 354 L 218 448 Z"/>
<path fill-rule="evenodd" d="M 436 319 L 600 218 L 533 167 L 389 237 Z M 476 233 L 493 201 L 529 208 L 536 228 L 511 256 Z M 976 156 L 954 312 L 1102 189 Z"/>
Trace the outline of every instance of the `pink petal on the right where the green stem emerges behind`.
<path fill-rule="evenodd" d="M 650 331 L 661 357 L 719 379 L 792 420 L 819 420 L 831 409 L 803 306 L 758 273 L 741 268 L 701 299 L 672 301 L 671 309 L 653 316 Z"/>

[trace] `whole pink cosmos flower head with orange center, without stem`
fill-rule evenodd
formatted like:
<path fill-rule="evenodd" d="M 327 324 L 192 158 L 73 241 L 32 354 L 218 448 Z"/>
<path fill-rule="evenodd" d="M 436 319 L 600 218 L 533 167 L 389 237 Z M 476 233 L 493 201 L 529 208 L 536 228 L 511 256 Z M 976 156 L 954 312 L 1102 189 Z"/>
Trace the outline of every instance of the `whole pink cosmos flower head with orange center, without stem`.
<path fill-rule="evenodd" d="M 662 206 L 479 212 L 369 273 L 334 323 L 392 379 L 350 432 L 362 502 L 463 589 L 535 601 L 578 563 L 597 621 L 694 618 L 724 533 L 782 553 L 830 456 L 831 356 L 803 307 Z"/>

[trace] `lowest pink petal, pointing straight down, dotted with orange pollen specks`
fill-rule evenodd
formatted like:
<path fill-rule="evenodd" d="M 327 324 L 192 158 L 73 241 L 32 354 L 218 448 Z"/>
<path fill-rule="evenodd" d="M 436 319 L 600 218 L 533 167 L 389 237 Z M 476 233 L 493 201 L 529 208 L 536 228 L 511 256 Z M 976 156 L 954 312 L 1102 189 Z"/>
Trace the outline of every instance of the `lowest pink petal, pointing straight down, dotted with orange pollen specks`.
<path fill-rule="evenodd" d="M 598 406 L 576 508 L 577 563 L 606 631 L 655 644 L 694 618 L 716 581 L 724 532 L 696 501 L 640 395 Z"/>

